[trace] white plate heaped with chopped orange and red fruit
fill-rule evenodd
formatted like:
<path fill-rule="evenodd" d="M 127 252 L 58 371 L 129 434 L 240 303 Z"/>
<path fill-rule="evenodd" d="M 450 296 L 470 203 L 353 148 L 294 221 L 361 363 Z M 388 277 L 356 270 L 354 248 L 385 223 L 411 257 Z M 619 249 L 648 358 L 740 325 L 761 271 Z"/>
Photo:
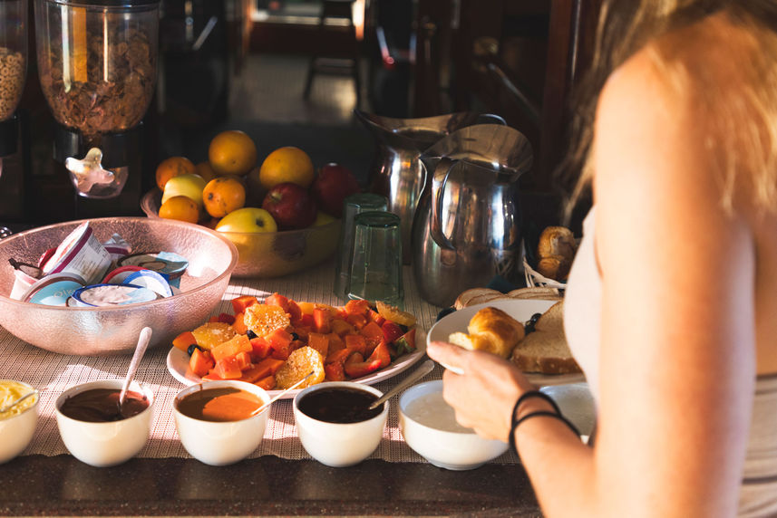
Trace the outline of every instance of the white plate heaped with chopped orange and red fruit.
<path fill-rule="evenodd" d="M 271 397 L 313 373 L 283 398 L 322 381 L 373 385 L 421 360 L 426 333 L 413 314 L 376 302 L 345 306 L 296 302 L 275 293 L 232 301 L 233 313 L 211 317 L 173 340 L 167 368 L 184 385 L 239 379 Z"/>

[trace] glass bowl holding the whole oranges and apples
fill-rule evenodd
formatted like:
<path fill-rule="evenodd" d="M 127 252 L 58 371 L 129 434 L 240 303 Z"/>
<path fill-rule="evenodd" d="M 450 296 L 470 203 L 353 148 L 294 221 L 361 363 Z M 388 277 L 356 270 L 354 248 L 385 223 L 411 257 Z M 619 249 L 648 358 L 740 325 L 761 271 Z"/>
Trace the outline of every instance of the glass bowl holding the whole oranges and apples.
<path fill-rule="evenodd" d="M 154 188 L 141 198 L 141 208 L 152 219 L 160 219 L 162 193 Z M 299 272 L 321 263 L 335 253 L 340 237 L 340 220 L 301 230 L 278 232 L 219 232 L 238 248 L 236 277 L 269 279 Z"/>

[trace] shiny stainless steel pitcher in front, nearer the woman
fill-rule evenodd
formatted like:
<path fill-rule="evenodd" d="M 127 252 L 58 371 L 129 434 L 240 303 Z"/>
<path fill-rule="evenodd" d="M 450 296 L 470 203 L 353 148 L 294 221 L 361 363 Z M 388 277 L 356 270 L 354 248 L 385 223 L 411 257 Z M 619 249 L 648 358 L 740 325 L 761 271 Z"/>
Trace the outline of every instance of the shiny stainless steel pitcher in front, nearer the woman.
<path fill-rule="evenodd" d="M 413 273 L 422 298 L 450 306 L 497 274 L 520 274 L 518 179 L 531 168 L 529 140 L 516 129 L 478 124 L 424 151 L 431 177 L 415 211 Z"/>

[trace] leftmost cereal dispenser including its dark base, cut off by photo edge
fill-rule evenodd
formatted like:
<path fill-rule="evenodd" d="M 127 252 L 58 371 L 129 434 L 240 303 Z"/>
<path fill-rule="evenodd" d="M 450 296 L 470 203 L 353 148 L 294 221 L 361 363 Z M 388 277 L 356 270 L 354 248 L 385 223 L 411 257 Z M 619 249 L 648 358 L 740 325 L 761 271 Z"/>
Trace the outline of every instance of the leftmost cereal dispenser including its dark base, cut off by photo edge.
<path fill-rule="evenodd" d="M 27 0 L 0 0 L 0 216 L 20 216 L 27 143 L 16 108 L 27 72 Z"/>

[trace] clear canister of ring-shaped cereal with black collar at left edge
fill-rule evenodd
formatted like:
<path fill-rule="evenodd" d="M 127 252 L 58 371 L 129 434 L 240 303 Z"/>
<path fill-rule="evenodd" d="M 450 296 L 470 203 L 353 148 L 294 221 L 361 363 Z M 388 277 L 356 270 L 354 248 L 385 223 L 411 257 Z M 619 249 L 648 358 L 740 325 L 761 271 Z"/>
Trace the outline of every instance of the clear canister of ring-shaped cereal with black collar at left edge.
<path fill-rule="evenodd" d="M 0 165 L 18 147 L 16 108 L 26 75 L 27 0 L 0 0 Z"/>

